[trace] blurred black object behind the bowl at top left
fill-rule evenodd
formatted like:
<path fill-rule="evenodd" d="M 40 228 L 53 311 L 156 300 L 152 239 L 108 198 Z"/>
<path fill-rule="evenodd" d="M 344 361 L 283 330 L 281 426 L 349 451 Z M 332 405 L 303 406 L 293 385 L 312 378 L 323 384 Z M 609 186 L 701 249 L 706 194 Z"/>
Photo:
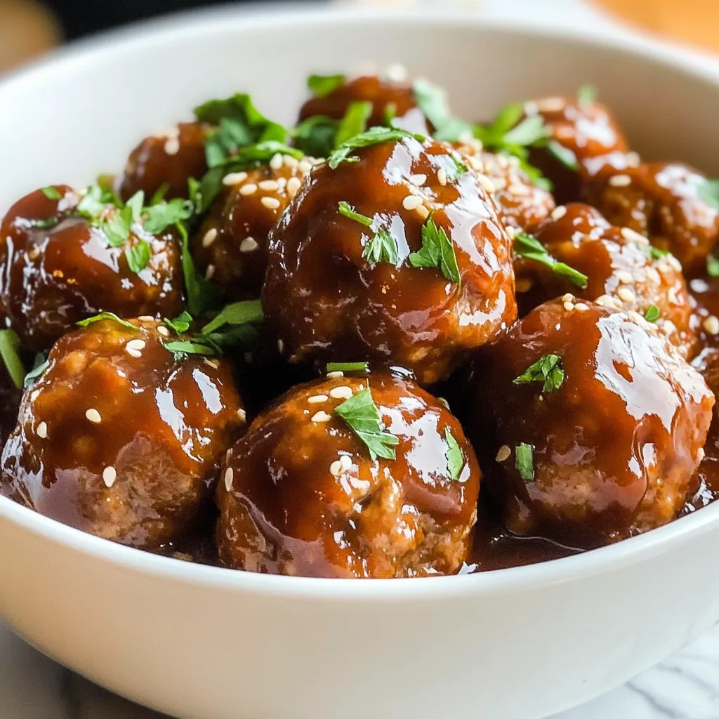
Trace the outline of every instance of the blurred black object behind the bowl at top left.
<path fill-rule="evenodd" d="M 222 4 L 218 0 L 44 0 L 68 40 L 157 15 Z"/>

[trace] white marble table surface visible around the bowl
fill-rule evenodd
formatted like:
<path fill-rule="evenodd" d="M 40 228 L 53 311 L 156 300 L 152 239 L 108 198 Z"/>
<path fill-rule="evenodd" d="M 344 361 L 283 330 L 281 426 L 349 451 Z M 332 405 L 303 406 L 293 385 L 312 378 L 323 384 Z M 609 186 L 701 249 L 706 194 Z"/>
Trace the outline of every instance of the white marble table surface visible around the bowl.
<path fill-rule="evenodd" d="M 412 0 L 394 1 L 407 4 Z M 437 0 L 416 1 L 431 4 Z M 522 24 L 569 27 L 596 35 L 634 32 L 618 27 L 582 0 L 458 1 L 485 17 L 508 18 Z M 680 53 L 719 74 L 719 60 L 709 55 L 677 46 L 667 46 L 667 52 Z M 152 718 L 161 719 L 157 713 L 115 697 L 63 669 L 0 623 L 0 719 Z M 667 718 L 719 719 L 719 626 L 624 687 L 552 719 Z"/>

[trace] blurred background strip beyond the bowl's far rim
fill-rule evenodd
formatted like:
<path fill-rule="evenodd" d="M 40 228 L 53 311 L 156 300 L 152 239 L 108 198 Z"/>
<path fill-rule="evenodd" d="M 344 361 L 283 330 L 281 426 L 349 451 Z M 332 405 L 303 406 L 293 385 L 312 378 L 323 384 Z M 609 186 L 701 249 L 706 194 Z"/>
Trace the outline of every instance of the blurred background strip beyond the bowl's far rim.
<path fill-rule="evenodd" d="M 226 1 L 226 0 L 225 0 Z M 326 0 L 329 4 L 331 0 Z M 528 19 L 543 14 L 592 12 L 704 50 L 719 52 L 719 0 L 334 0 L 343 4 L 411 5 L 457 2 L 484 10 L 511 6 Z M 286 3 L 287 0 L 284 0 Z M 139 19 L 220 4 L 217 0 L 0 0 L 0 73 L 68 40 Z M 257 0 L 255 0 L 257 4 Z M 262 0 L 271 6 L 273 0 Z M 495 13 L 496 14 L 496 13 Z"/>

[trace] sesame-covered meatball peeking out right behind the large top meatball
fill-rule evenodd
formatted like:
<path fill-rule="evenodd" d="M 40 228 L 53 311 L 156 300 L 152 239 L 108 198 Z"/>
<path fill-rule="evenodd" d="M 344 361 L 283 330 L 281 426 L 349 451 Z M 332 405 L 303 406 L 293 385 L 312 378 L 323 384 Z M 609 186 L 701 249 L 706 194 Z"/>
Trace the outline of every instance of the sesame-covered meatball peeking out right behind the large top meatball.
<path fill-rule="evenodd" d="M 554 209 L 551 193 L 530 180 L 516 157 L 482 152 L 477 140 L 462 142 L 457 151 L 467 157 L 473 170 L 491 180 L 499 219 L 505 227 L 531 232 Z"/>

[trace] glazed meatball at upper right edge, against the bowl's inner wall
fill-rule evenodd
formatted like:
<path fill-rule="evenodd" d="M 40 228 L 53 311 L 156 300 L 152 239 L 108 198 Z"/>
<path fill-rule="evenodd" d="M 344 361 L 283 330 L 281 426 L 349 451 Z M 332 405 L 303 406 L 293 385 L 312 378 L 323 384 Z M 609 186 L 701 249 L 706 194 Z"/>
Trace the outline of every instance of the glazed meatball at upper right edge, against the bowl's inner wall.
<path fill-rule="evenodd" d="M 719 237 L 719 211 L 700 193 L 705 182 L 687 165 L 648 162 L 597 178 L 586 197 L 612 224 L 646 235 L 695 275 Z"/>

